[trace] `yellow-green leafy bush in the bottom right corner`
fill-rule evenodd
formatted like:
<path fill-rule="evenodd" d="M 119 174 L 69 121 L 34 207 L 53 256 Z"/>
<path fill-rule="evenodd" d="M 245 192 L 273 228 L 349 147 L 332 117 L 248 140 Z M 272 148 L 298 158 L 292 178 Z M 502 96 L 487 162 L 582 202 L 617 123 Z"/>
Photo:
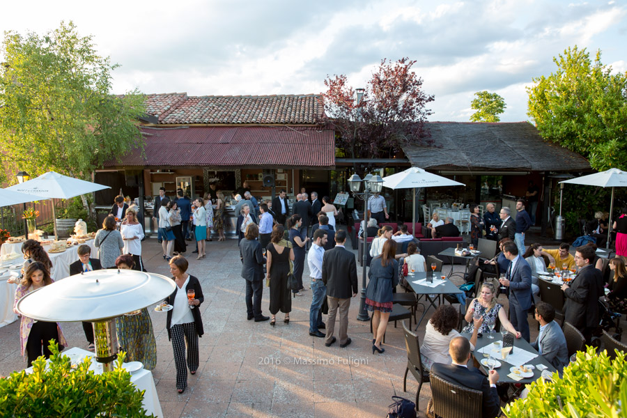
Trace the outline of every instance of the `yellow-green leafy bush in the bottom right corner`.
<path fill-rule="evenodd" d="M 527 398 L 503 410 L 510 418 L 626 418 L 625 354 L 610 360 L 605 350 L 597 355 L 588 347 L 587 353 L 577 353 L 577 361 L 564 369 L 561 379 L 554 373 L 552 382 L 537 380 L 529 385 Z"/>

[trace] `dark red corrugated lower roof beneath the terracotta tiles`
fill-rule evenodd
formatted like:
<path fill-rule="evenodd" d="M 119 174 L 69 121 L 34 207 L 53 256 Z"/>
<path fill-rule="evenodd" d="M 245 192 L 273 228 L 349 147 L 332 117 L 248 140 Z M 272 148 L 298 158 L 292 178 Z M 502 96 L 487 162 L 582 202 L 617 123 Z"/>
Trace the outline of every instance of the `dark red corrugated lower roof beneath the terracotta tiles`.
<path fill-rule="evenodd" d="M 104 167 L 332 168 L 335 132 L 318 127 L 141 127 L 137 149 Z"/>

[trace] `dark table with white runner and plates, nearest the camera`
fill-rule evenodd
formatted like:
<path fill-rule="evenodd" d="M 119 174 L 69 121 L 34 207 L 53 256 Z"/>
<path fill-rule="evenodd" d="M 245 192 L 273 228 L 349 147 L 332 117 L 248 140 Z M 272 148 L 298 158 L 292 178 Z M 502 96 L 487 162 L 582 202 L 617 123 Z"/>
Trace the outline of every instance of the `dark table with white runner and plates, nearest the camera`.
<path fill-rule="evenodd" d="M 475 366 L 478 365 L 477 367 L 479 367 L 479 369 L 481 369 L 481 371 L 483 371 L 483 373 L 485 373 L 486 376 L 488 375 L 489 369 L 488 367 L 483 366 L 483 364 L 481 364 L 481 360 L 486 357 L 483 357 L 483 354 L 479 353 L 479 349 L 485 346 L 488 346 L 489 344 L 494 343 L 495 341 L 503 341 L 503 337 L 500 334 L 500 332 L 493 332 L 492 334 L 494 336 L 494 339 L 489 339 L 488 334 L 483 334 L 483 336 L 478 338 L 477 344 L 474 346 L 474 351 L 472 352 L 472 357 L 474 358 Z M 472 336 L 472 334 L 468 332 L 463 333 L 462 335 L 465 336 L 469 340 L 470 340 L 470 337 Z M 538 354 L 538 351 L 535 350 L 531 346 L 531 344 L 527 343 L 527 341 L 525 341 L 525 339 L 522 339 L 522 338 L 514 339 L 513 348 L 514 350 L 516 350 L 516 348 L 519 348 L 525 351 L 529 351 L 530 353 Z M 532 364 L 534 366 L 535 368 L 533 370 L 534 376 L 532 378 L 524 378 L 522 380 L 513 380 L 512 378 L 509 378 L 507 376 L 510 373 L 509 369 L 511 369 L 513 365 L 509 364 L 505 360 L 502 360 L 501 357 L 498 357 L 497 360 L 501 362 L 501 366 L 498 369 L 495 369 L 497 372 L 499 372 L 499 383 L 527 384 L 527 383 L 535 382 L 536 380 L 540 378 L 541 373 L 542 373 L 542 371 L 538 369 L 538 364 L 544 364 L 545 366 L 547 366 L 547 370 L 550 371 L 551 373 L 555 373 L 555 371 L 557 371 L 555 367 L 553 367 L 548 361 L 546 361 L 546 359 L 542 355 L 538 355 L 538 357 L 535 357 L 534 359 L 530 360 L 527 363 L 527 364 Z"/>

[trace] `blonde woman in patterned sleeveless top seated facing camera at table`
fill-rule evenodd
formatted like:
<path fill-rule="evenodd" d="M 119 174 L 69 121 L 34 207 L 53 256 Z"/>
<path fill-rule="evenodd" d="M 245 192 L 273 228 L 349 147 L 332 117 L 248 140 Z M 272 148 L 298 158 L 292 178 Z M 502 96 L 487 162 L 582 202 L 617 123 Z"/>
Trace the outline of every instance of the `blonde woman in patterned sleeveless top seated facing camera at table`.
<path fill-rule="evenodd" d="M 472 332 L 474 329 L 473 318 L 483 318 L 483 323 L 479 332 L 488 333 L 494 330 L 496 320 L 499 318 L 501 321 L 501 327 L 505 328 L 512 334 L 516 335 L 516 338 L 520 338 L 520 332 L 516 331 L 516 328 L 511 325 L 509 319 L 507 319 L 507 313 L 503 309 L 503 305 L 496 301 L 494 284 L 484 283 L 481 286 L 481 294 L 479 297 L 475 297 L 470 302 L 470 307 L 466 311 L 464 319 L 468 323 L 462 330 L 463 332 Z"/>

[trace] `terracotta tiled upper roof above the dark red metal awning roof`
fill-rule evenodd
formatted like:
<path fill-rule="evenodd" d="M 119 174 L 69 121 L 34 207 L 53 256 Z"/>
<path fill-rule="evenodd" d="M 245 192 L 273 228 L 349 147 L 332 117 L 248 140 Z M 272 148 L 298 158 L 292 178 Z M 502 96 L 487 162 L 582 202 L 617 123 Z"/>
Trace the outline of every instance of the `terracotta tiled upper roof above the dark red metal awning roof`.
<path fill-rule="evenodd" d="M 146 113 L 159 124 L 287 124 L 312 125 L 323 116 L 320 95 L 188 96 L 146 95 Z"/>

